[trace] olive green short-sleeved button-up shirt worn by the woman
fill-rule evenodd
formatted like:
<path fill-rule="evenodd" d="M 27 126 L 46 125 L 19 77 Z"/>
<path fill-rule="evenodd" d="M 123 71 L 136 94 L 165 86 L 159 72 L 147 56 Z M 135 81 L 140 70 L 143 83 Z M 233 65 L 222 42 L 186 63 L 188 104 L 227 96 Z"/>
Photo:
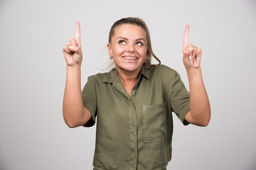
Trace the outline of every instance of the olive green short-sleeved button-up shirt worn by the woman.
<path fill-rule="evenodd" d="M 97 170 L 162 170 L 172 157 L 172 112 L 189 124 L 189 92 L 165 65 L 142 66 L 131 97 L 116 69 L 89 76 L 82 96 L 92 114 L 83 126 L 93 126 L 97 116 Z"/>

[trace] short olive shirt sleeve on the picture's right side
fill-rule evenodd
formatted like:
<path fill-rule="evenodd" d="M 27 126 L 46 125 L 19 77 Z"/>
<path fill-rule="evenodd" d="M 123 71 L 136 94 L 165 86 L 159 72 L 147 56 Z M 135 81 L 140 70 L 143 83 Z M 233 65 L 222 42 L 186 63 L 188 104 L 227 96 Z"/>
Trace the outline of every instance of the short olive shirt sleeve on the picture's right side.
<path fill-rule="evenodd" d="M 173 70 L 171 78 L 169 98 L 172 111 L 177 115 L 184 125 L 188 125 L 189 122 L 187 122 L 184 117 L 190 110 L 189 92 L 184 83 L 181 81 L 180 75 L 175 70 Z"/>

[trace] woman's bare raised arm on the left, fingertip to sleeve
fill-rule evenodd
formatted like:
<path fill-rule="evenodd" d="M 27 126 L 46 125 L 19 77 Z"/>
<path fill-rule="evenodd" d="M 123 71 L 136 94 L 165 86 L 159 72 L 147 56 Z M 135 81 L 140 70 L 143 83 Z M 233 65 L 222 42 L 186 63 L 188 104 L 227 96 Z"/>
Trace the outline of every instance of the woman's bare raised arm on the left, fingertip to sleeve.
<path fill-rule="evenodd" d="M 76 37 L 63 47 L 64 58 L 67 62 L 67 77 L 63 97 L 63 118 L 67 126 L 81 126 L 91 118 L 90 112 L 83 107 L 81 93 L 81 50 L 80 24 L 76 22 Z"/>

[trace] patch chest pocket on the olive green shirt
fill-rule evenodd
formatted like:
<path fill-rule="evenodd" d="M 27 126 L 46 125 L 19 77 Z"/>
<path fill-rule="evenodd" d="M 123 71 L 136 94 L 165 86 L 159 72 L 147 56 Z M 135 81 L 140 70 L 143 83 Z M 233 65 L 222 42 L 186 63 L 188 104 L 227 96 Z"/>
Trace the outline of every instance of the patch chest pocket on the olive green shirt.
<path fill-rule="evenodd" d="M 167 103 L 142 106 L 143 142 L 156 142 L 166 137 Z"/>

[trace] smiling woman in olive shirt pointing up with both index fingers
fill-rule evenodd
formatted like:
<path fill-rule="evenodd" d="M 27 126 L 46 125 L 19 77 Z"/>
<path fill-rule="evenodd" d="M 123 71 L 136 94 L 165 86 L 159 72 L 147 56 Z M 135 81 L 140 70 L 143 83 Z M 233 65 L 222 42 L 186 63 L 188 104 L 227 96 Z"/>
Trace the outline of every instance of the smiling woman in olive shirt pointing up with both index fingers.
<path fill-rule="evenodd" d="M 144 21 L 131 17 L 110 29 L 108 52 L 116 68 L 88 77 L 81 92 L 83 55 L 76 22 L 76 38 L 63 47 L 63 116 L 72 128 L 93 126 L 97 116 L 94 169 L 166 169 L 172 151 L 172 111 L 184 125 L 207 126 L 211 110 L 200 68 L 202 50 L 189 44 L 188 36 L 186 26 L 182 52 L 190 93 L 175 70 L 160 65 Z M 151 64 L 152 56 L 158 65 Z"/>

